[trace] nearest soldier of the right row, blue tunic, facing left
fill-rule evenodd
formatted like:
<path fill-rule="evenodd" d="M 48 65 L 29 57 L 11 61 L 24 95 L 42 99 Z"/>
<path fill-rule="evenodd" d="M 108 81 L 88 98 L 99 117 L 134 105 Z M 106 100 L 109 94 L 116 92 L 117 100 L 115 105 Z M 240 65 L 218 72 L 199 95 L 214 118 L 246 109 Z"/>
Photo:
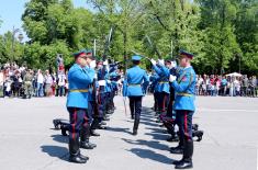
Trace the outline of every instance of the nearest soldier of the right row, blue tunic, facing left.
<path fill-rule="evenodd" d="M 192 140 L 192 116 L 195 111 L 195 72 L 190 64 L 193 55 L 180 50 L 180 67 L 182 70 L 179 76 L 170 75 L 169 81 L 176 91 L 173 110 L 176 110 L 176 122 L 179 126 L 179 145 L 171 148 L 172 154 L 183 154 L 180 161 L 176 161 L 176 169 L 192 168 L 193 140 Z"/>

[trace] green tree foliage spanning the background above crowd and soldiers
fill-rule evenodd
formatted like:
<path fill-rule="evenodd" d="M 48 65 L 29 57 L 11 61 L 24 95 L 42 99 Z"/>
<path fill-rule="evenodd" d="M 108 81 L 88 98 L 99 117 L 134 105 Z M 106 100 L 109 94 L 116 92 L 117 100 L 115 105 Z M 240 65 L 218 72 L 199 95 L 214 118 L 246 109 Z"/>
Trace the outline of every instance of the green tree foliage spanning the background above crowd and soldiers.
<path fill-rule="evenodd" d="M 158 57 L 148 35 L 162 58 L 175 58 L 180 48 L 194 53 L 199 73 L 258 73 L 257 0 L 87 0 L 89 4 L 92 11 L 74 8 L 71 0 L 29 1 L 22 20 L 30 43 L 21 47 L 15 41 L 16 59 L 45 68 L 61 53 L 68 66 L 70 54 L 93 48 L 93 39 L 102 56 L 113 26 L 109 55 L 124 67 L 132 50 Z M 11 57 L 8 34 L 0 37 L 0 61 Z M 148 66 L 144 60 L 143 67 Z"/>

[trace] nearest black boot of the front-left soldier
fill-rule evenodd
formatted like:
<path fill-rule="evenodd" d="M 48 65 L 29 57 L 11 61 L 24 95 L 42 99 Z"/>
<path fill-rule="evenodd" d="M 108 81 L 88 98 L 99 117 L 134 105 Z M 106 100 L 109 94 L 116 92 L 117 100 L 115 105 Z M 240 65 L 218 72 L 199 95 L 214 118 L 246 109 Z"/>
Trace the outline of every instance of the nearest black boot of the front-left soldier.
<path fill-rule="evenodd" d="M 89 158 L 87 159 L 87 157 L 80 155 L 78 140 L 74 140 L 74 139 L 69 140 L 69 154 L 70 154 L 70 157 L 69 157 L 70 162 L 86 163 L 87 160 L 89 159 Z"/>

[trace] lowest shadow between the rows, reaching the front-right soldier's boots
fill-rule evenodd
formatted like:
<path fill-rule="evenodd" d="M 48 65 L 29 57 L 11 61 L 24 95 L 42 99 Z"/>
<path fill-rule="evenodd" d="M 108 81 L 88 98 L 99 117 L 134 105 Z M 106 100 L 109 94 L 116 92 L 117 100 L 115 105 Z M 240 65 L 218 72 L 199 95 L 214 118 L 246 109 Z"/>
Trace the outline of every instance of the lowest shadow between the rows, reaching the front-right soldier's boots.
<path fill-rule="evenodd" d="M 150 160 L 166 163 L 166 165 L 172 165 L 175 161 L 173 159 L 170 159 L 164 155 L 157 154 L 157 152 L 149 150 L 149 149 L 132 148 L 127 151 L 131 151 L 141 158 L 150 159 Z"/>

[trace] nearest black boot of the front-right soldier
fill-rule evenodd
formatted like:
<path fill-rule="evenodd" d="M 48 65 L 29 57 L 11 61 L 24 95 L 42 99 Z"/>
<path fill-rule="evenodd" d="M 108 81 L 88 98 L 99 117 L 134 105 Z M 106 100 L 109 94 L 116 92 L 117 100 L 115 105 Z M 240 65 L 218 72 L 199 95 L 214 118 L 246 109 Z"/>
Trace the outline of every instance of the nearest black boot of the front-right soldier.
<path fill-rule="evenodd" d="M 189 169 L 192 168 L 192 155 L 193 155 L 193 140 L 188 140 L 184 143 L 183 157 L 178 163 L 176 163 L 176 169 Z"/>

